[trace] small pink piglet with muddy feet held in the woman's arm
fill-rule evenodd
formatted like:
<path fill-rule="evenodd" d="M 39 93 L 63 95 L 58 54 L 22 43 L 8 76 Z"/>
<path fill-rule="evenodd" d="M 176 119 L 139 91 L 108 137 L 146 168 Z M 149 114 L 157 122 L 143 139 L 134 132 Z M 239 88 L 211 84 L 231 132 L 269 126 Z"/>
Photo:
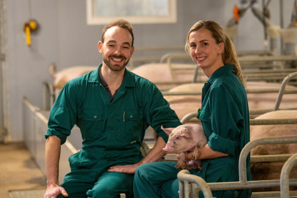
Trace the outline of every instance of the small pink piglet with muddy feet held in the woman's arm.
<path fill-rule="evenodd" d="M 202 126 L 196 124 L 180 125 L 176 128 L 163 128 L 161 126 L 161 129 L 169 135 L 163 151 L 166 154 L 178 154 L 178 162 L 175 167 L 187 170 L 198 168 L 201 171 L 201 161 L 197 160 L 197 158 L 200 155 L 201 148 L 207 144 Z M 193 151 L 193 158 L 188 163 L 185 163 L 188 151 Z"/>

